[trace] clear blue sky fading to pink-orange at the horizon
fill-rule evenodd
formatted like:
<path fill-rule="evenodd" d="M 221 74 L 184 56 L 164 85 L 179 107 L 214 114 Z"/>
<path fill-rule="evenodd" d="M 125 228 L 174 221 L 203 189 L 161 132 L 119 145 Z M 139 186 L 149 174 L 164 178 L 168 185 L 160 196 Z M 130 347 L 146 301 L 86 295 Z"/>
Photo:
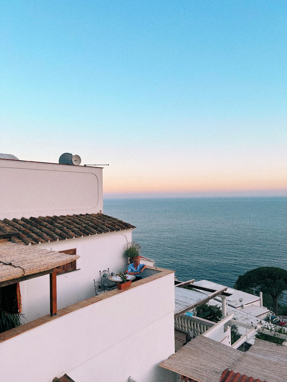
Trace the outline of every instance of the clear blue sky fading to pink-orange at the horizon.
<path fill-rule="evenodd" d="M 287 195 L 287 3 L 2 0 L 0 152 L 105 197 Z"/>

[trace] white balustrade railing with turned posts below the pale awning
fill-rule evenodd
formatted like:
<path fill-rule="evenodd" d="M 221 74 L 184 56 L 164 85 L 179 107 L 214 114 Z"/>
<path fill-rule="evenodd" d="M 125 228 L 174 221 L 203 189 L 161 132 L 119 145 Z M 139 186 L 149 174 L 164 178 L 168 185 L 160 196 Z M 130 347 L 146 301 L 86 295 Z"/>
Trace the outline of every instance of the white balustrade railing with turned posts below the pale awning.
<path fill-rule="evenodd" d="M 212 321 L 196 316 L 186 316 L 185 314 L 174 318 L 174 329 L 187 334 L 191 332 L 193 337 L 207 332 L 213 325 L 215 323 Z"/>

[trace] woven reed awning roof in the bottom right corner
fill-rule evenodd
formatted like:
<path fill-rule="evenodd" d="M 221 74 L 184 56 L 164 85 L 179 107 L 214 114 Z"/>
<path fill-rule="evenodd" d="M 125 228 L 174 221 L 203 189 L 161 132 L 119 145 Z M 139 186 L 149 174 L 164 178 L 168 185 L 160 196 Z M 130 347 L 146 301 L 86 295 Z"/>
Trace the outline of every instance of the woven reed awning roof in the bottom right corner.
<path fill-rule="evenodd" d="M 199 335 L 159 366 L 198 382 L 220 382 L 226 369 L 256 380 L 286 382 L 287 346 L 256 339 L 242 353 Z"/>

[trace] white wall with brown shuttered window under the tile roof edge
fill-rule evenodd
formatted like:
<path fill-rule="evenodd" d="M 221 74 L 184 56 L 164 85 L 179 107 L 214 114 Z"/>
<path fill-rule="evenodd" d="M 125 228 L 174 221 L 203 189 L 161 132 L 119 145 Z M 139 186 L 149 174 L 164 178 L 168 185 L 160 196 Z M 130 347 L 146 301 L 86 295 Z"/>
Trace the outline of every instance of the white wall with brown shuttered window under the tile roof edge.
<path fill-rule="evenodd" d="M 57 275 L 57 308 L 83 301 L 95 296 L 94 278 L 99 280 L 99 271 L 126 269 L 123 248 L 132 240 L 132 230 L 91 235 L 83 238 L 42 243 L 37 247 L 54 251 L 77 249 L 77 269 Z M 50 312 L 49 275 L 36 277 L 20 283 L 23 314 L 31 321 Z M 22 322 L 27 322 L 22 319 Z"/>

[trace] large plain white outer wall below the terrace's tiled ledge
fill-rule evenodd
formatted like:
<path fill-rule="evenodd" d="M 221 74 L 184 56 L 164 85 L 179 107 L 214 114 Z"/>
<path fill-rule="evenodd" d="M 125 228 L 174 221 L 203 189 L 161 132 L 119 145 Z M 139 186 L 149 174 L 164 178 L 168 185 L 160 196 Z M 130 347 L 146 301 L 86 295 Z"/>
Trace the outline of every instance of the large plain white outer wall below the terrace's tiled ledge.
<path fill-rule="evenodd" d="M 0 381 L 173 381 L 173 311 L 174 274 L 73 311 L 0 343 Z"/>

